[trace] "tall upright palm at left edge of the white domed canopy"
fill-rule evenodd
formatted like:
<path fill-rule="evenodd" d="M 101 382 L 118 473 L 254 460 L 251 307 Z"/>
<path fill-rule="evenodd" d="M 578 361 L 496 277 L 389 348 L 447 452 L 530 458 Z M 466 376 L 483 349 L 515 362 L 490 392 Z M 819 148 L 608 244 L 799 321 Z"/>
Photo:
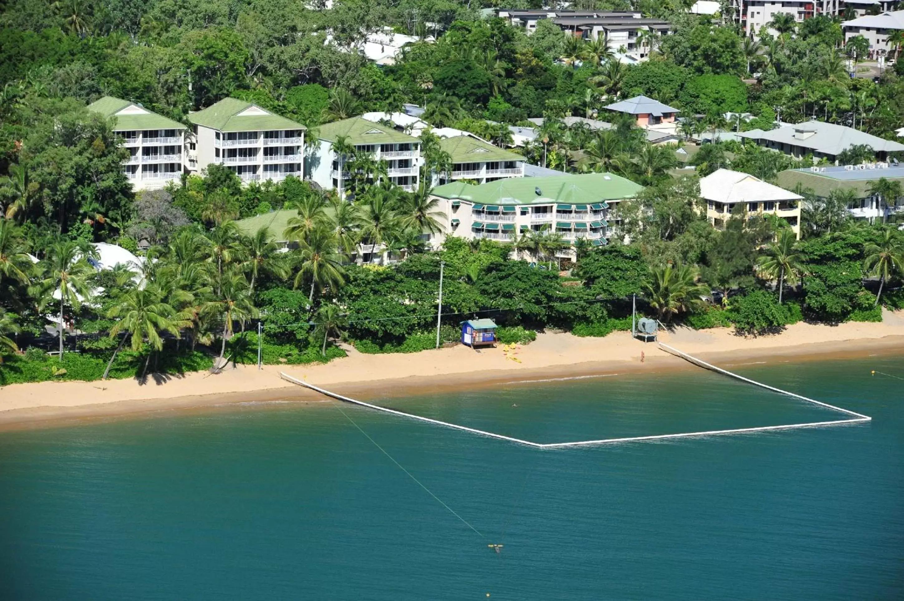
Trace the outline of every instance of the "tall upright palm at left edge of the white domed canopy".
<path fill-rule="evenodd" d="M 78 310 L 82 300 L 89 298 L 91 290 L 87 277 L 94 273 L 88 262 L 89 257 L 96 257 L 97 251 L 89 244 L 80 244 L 72 240 L 57 239 L 47 255 L 39 264 L 42 280 L 39 284 L 41 305 L 49 304 L 54 296 L 60 294 L 60 360 L 62 360 L 62 342 L 65 331 L 63 317 L 65 305 Z"/>

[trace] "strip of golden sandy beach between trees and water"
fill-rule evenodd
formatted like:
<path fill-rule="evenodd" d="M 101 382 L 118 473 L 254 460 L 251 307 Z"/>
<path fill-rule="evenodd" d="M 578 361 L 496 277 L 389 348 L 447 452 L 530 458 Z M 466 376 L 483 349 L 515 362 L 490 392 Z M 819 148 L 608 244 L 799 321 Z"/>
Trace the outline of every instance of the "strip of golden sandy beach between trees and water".
<path fill-rule="evenodd" d="M 662 333 L 660 341 L 722 367 L 895 354 L 904 353 L 904 315 L 886 312 L 881 324 L 794 324 L 783 333 L 756 338 L 737 336 L 727 328 L 678 328 Z M 474 351 L 464 345 L 410 354 L 348 351 L 348 357 L 325 365 L 265 365 L 260 371 L 239 366 L 220 374 L 149 377 L 143 384 L 137 380 L 12 384 L 0 388 L 0 428 L 239 402 L 323 400 L 280 379 L 279 371 L 354 398 L 372 399 L 519 380 L 699 369 L 655 343 L 632 340 L 625 332 L 605 338 L 541 333 L 514 352 L 501 347 Z"/>

